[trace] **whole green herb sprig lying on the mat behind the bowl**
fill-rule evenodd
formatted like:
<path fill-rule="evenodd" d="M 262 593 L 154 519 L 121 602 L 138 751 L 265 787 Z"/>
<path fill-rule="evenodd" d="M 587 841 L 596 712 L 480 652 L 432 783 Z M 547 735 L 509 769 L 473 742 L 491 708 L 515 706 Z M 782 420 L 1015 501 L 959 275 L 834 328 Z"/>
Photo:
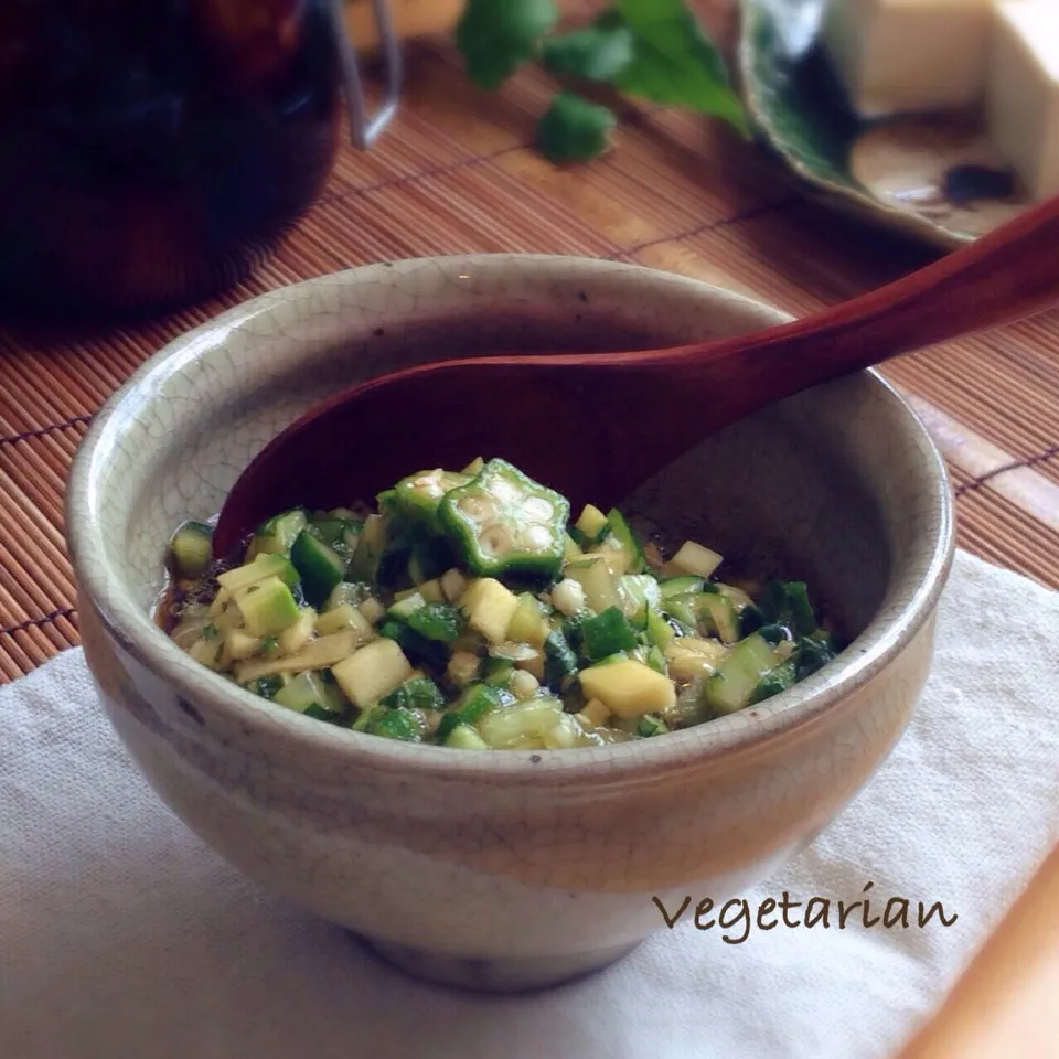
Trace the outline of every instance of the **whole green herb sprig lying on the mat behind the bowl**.
<path fill-rule="evenodd" d="M 556 164 L 605 152 L 618 116 L 569 86 L 609 86 L 638 99 L 677 106 L 749 135 L 724 58 L 684 0 L 613 0 L 589 25 L 555 32 L 553 0 L 467 0 L 456 44 L 468 76 L 499 88 L 527 63 L 560 87 L 537 124 L 536 146 Z"/>

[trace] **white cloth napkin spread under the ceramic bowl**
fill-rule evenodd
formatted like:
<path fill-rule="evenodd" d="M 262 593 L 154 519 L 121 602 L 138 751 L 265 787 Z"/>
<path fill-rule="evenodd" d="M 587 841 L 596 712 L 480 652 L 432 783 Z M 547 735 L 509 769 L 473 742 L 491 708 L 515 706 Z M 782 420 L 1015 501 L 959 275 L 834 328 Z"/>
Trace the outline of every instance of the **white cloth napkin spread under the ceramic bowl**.
<path fill-rule="evenodd" d="M 1059 593 L 959 554 L 902 742 L 746 895 L 756 917 L 783 891 L 849 903 L 871 881 L 878 911 L 902 896 L 914 923 L 917 902 L 942 901 L 952 926 L 865 929 L 858 910 L 838 930 L 833 909 L 830 929 L 755 926 L 730 944 L 687 913 L 600 975 L 515 998 L 407 980 L 246 881 L 139 778 L 68 651 L 0 688 L 0 1056 L 891 1055 L 1059 838 L 1057 629 Z"/>

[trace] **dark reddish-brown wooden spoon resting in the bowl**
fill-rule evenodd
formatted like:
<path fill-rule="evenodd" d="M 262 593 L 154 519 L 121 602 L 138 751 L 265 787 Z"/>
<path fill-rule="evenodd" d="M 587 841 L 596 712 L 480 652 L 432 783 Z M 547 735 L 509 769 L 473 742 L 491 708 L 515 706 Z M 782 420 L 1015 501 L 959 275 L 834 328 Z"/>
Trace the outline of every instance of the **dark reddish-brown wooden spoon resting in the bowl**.
<path fill-rule="evenodd" d="M 605 509 L 682 452 L 810 386 L 1059 301 L 1059 197 L 894 284 L 750 334 L 667 350 L 438 361 L 310 409 L 246 468 L 214 537 L 349 505 L 419 470 L 502 457 Z"/>

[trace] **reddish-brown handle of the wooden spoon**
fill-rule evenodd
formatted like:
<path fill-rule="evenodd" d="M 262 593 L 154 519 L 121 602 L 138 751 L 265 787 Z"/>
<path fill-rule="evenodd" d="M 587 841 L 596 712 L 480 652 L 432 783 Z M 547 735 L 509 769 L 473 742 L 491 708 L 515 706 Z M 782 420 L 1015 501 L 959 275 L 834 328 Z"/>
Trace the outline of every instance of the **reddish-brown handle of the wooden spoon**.
<path fill-rule="evenodd" d="M 1059 196 L 852 301 L 756 335 L 671 355 L 674 364 L 684 362 L 688 374 L 694 363 L 714 381 L 718 361 L 727 357 L 740 386 L 774 400 L 901 353 L 1012 323 L 1057 302 Z"/>

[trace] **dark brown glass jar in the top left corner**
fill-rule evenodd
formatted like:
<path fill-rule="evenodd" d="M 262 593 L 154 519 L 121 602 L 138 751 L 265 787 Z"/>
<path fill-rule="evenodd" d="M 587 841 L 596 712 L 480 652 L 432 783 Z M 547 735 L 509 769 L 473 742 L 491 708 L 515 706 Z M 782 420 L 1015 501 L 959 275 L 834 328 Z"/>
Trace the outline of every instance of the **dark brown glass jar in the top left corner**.
<path fill-rule="evenodd" d="M 243 278 L 341 135 L 328 0 L 0 0 L 0 310 Z"/>

